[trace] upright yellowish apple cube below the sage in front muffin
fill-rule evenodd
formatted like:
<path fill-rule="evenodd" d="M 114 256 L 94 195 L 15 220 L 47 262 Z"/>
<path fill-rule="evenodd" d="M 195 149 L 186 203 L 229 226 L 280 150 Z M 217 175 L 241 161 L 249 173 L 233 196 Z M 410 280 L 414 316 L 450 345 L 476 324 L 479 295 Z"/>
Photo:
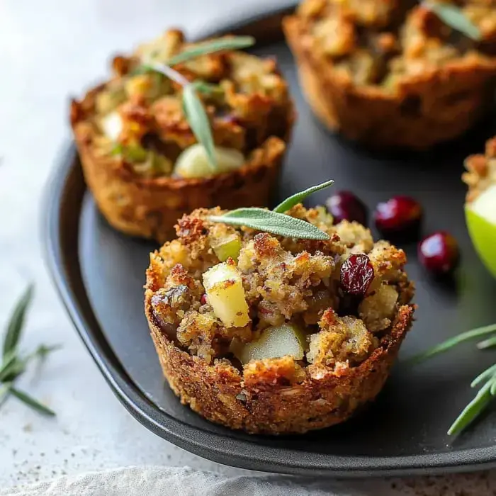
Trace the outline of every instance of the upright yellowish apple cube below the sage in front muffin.
<path fill-rule="evenodd" d="M 208 303 L 225 327 L 244 327 L 249 322 L 243 281 L 235 261 L 217 264 L 203 274 Z"/>

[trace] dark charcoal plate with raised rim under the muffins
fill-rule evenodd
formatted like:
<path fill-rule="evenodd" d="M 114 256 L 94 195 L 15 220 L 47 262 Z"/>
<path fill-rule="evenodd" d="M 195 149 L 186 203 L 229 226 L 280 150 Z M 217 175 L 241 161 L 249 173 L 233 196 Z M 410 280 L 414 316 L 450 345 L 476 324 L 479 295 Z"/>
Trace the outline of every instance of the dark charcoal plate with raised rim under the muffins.
<path fill-rule="evenodd" d="M 401 357 L 478 325 L 496 322 L 496 281 L 473 251 L 463 220 L 463 158 L 480 152 L 495 131 L 489 121 L 466 137 L 425 154 L 378 156 L 324 130 L 312 118 L 281 41 L 280 16 L 266 14 L 242 28 L 259 38 L 259 55 L 277 55 L 298 106 L 281 198 L 333 178 L 370 208 L 395 194 L 424 205 L 424 232 L 449 230 L 461 246 L 453 281 L 432 281 L 405 245 L 417 282 L 417 322 Z M 239 26 L 231 26 L 230 30 Z M 101 372 L 125 407 L 148 429 L 220 463 L 281 473 L 339 476 L 440 473 L 496 466 L 491 413 L 458 439 L 446 429 L 473 395 L 469 383 L 494 356 L 462 346 L 416 368 L 398 363 L 383 393 L 359 417 L 304 436 L 249 436 L 205 421 L 182 406 L 162 378 L 143 315 L 148 254 L 156 246 L 120 235 L 96 210 L 70 145 L 47 196 L 47 261 L 67 310 Z M 311 203 L 325 200 L 321 191 Z"/>

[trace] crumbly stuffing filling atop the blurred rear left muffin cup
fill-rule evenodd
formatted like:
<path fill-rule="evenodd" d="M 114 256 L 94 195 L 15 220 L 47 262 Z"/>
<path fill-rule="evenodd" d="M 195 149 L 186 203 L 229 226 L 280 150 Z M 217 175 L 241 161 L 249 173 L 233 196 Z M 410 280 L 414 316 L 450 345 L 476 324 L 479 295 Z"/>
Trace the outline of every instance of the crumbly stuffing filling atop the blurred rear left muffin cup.
<path fill-rule="evenodd" d="M 196 142 L 186 120 L 181 85 L 158 72 L 143 72 L 144 62 L 167 62 L 192 47 L 179 30 L 169 30 L 130 57 L 113 59 L 113 77 L 72 102 L 73 125 L 91 128 L 98 154 L 123 160 L 140 176 L 170 176 L 186 147 Z M 224 51 L 176 64 L 190 81 L 207 83 L 198 91 L 210 117 L 215 144 L 245 157 L 269 137 L 287 137 L 293 107 L 276 60 L 246 52 Z M 104 133 L 109 115 L 122 129 L 117 139 Z"/>

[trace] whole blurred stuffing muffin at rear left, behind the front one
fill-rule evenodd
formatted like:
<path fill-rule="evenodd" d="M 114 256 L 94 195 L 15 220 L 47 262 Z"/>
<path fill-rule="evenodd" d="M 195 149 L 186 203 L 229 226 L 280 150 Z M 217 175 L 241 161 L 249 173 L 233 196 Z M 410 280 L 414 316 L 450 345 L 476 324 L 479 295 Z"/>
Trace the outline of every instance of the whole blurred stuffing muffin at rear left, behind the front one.
<path fill-rule="evenodd" d="M 115 57 L 112 79 L 72 101 L 71 123 L 86 183 L 108 222 L 164 242 L 199 207 L 269 204 L 295 113 L 276 62 L 225 50 L 176 64 L 210 120 L 218 169 L 208 168 L 182 107 L 182 88 L 142 62 L 194 46 L 180 31 Z"/>

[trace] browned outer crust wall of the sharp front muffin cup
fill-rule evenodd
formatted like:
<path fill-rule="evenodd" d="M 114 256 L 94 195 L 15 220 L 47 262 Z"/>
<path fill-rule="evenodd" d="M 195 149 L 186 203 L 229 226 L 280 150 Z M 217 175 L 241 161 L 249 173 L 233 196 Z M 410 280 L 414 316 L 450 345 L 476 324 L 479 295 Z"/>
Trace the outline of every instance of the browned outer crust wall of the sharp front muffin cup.
<path fill-rule="evenodd" d="M 184 405 L 232 429 L 285 434 L 344 422 L 357 408 L 376 398 L 410 329 L 413 307 L 400 308 L 390 334 L 359 366 L 334 373 L 315 371 L 303 382 L 291 385 L 285 369 L 273 367 L 265 374 L 245 372 L 242 377 L 228 363 L 209 365 L 191 356 L 160 332 L 148 298 L 145 312 L 164 376 Z"/>

